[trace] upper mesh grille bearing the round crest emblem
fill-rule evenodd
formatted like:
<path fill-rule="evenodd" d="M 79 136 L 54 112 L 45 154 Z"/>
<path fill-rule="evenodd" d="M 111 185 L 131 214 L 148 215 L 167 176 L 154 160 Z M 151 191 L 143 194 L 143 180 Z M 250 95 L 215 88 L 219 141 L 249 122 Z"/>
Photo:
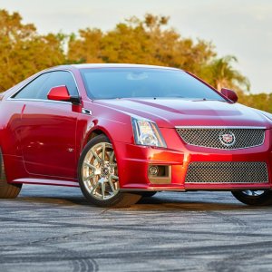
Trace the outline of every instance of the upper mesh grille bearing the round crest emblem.
<path fill-rule="evenodd" d="M 220 150 L 246 149 L 265 141 L 264 128 L 177 128 L 177 132 L 187 144 Z"/>

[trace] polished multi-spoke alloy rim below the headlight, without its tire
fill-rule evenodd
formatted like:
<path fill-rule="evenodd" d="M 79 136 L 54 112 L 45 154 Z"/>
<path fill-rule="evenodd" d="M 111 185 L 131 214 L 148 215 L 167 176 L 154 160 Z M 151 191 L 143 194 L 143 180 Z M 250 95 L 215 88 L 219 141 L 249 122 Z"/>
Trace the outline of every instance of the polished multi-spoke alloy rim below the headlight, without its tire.
<path fill-rule="evenodd" d="M 117 162 L 109 142 L 92 146 L 83 160 L 83 184 L 94 199 L 112 199 L 119 192 Z"/>

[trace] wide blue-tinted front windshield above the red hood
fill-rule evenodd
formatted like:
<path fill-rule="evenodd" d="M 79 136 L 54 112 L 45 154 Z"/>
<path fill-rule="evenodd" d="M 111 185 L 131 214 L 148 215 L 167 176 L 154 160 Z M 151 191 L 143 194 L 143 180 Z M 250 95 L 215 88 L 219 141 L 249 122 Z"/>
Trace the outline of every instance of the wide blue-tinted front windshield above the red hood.
<path fill-rule="evenodd" d="M 160 68 L 81 69 L 92 99 L 183 98 L 226 101 L 189 73 Z"/>

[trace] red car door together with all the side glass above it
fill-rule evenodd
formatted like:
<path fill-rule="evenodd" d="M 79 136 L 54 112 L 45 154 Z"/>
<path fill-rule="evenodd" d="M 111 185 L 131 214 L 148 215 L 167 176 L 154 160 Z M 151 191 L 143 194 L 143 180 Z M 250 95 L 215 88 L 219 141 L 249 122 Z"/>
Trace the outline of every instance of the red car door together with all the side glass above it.
<path fill-rule="evenodd" d="M 24 100 L 20 135 L 24 165 L 33 175 L 76 179 L 78 113 L 71 102 L 47 99 L 48 92 L 59 85 L 79 96 L 72 73 L 53 71 L 40 75 L 14 97 Z"/>

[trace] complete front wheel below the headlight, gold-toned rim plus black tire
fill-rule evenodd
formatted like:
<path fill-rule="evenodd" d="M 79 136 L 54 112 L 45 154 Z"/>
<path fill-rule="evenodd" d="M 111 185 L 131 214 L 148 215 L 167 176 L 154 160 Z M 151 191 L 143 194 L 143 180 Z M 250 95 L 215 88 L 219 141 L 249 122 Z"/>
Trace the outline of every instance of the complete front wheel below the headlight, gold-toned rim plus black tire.
<path fill-rule="evenodd" d="M 83 195 L 96 206 L 130 207 L 141 199 L 136 192 L 120 191 L 114 150 L 103 134 L 94 137 L 83 149 L 78 176 Z"/>

